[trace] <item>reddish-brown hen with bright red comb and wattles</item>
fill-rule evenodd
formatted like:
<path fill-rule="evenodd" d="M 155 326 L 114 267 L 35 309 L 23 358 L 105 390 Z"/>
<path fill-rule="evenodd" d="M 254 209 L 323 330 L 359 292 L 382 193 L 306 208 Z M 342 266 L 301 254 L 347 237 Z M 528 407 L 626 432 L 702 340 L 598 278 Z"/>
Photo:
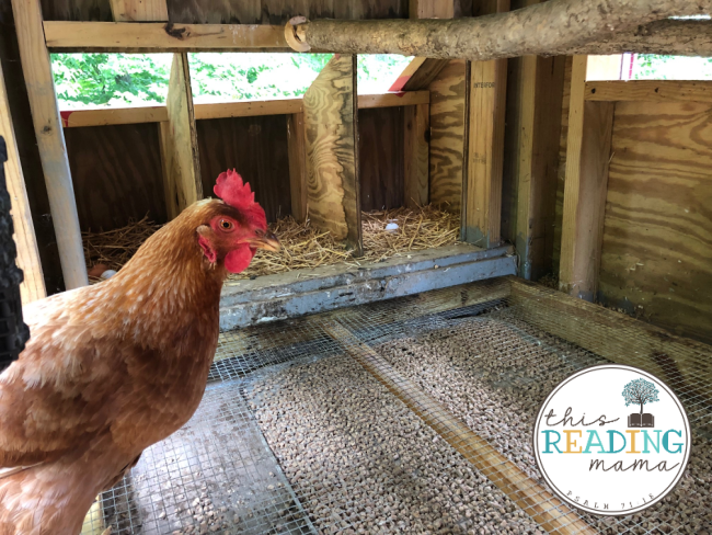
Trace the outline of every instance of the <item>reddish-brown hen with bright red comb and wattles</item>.
<path fill-rule="evenodd" d="M 24 308 L 0 375 L 0 535 L 77 535 L 94 498 L 195 412 L 228 271 L 279 244 L 239 174 L 149 238 L 112 278 Z"/>

